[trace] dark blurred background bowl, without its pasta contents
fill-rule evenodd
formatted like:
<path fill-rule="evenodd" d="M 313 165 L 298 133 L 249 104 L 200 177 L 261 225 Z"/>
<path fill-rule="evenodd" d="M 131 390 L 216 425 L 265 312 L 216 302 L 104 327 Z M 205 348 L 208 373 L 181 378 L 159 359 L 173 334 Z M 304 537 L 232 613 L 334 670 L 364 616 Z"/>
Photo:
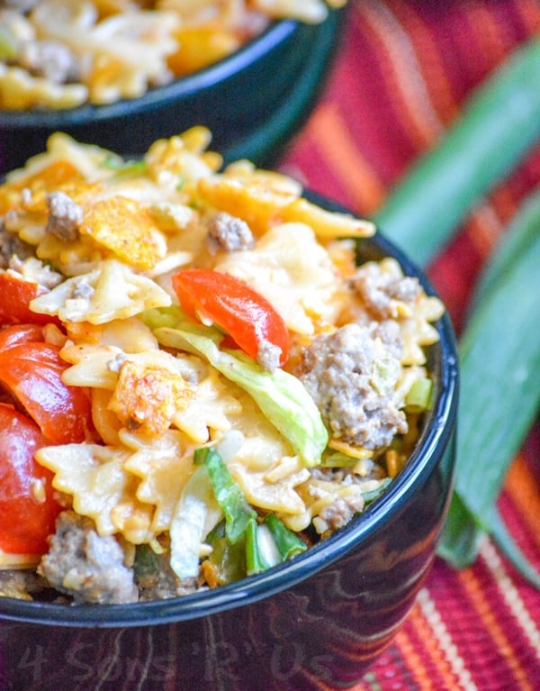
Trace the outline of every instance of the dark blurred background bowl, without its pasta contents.
<path fill-rule="evenodd" d="M 332 11 L 320 24 L 273 23 L 228 58 L 133 100 L 0 111 L 0 175 L 44 150 L 52 132 L 137 156 L 194 124 L 211 130 L 212 148 L 226 160 L 269 166 L 316 102 L 343 14 Z"/>

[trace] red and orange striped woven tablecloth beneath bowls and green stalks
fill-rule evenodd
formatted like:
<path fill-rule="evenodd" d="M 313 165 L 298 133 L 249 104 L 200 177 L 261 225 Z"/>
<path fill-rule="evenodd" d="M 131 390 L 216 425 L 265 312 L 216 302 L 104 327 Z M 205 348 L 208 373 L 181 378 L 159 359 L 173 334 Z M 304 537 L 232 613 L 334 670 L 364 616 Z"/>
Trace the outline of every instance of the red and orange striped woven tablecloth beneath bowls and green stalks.
<path fill-rule="evenodd" d="M 320 104 L 281 168 L 358 214 L 374 213 L 473 87 L 539 32 L 537 0 L 351 0 Z M 429 267 L 458 333 L 483 262 L 539 185 L 540 149 L 473 211 Z M 510 468 L 500 511 L 540 568 L 538 424 Z M 437 560 L 401 632 L 354 691 L 535 691 L 539 629 L 540 593 L 485 541 L 472 568 L 456 572 Z"/>

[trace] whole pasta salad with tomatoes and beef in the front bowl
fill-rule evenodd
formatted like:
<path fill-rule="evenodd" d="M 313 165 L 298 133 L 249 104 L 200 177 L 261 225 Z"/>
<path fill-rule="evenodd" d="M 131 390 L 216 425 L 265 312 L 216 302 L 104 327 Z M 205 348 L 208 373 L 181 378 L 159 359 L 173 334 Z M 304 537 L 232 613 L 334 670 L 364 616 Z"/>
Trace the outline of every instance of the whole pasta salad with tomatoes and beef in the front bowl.
<path fill-rule="evenodd" d="M 419 436 L 443 313 L 373 223 L 194 127 L 0 186 L 0 593 L 130 603 L 345 526 Z"/>

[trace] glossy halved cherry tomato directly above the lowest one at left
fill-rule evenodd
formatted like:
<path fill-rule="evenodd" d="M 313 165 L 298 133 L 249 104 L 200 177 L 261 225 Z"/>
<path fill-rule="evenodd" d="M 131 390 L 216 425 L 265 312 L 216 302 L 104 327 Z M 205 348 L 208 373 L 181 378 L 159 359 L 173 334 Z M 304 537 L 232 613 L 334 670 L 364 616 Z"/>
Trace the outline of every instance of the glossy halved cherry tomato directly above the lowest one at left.
<path fill-rule="evenodd" d="M 28 325 L 13 327 L 6 330 L 7 337 L 16 340 L 16 329 L 21 330 L 22 339 L 31 332 Z M 85 390 L 66 386 L 61 379 L 66 368 L 58 346 L 49 343 L 23 341 L 0 350 L 0 384 L 23 405 L 53 444 L 86 441 L 93 429 Z"/>

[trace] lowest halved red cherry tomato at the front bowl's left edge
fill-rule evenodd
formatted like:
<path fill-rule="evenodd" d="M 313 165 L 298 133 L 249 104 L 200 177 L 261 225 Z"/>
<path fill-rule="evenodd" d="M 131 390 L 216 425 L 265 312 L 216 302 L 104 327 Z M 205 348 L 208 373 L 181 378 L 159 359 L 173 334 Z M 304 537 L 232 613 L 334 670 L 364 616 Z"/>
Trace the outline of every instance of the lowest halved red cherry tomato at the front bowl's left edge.
<path fill-rule="evenodd" d="M 44 554 L 60 506 L 52 474 L 34 459 L 49 442 L 36 423 L 10 405 L 0 404 L 0 550 Z"/>

